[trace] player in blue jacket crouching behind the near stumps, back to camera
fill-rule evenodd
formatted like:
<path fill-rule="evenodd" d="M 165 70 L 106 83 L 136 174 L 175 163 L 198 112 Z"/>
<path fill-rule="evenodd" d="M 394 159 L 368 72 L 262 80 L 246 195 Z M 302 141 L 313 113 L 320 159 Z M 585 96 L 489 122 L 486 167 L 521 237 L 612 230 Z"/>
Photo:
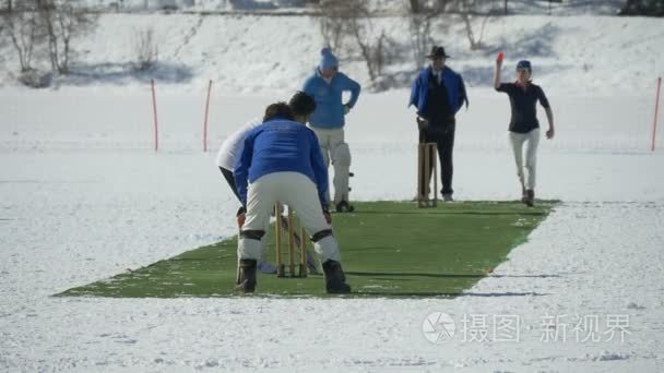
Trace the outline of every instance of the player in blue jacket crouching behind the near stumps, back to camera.
<path fill-rule="evenodd" d="M 339 244 L 328 212 L 328 170 L 318 140 L 304 123 L 316 108 L 313 99 L 299 93 L 290 104 L 272 104 L 265 109 L 263 124 L 250 131 L 234 176 L 246 214 L 238 215 L 238 290 L 253 292 L 257 262 L 264 246 L 270 215 L 275 202 L 292 207 L 310 234 L 320 255 L 325 289 L 330 293 L 351 291 L 341 266 Z"/>

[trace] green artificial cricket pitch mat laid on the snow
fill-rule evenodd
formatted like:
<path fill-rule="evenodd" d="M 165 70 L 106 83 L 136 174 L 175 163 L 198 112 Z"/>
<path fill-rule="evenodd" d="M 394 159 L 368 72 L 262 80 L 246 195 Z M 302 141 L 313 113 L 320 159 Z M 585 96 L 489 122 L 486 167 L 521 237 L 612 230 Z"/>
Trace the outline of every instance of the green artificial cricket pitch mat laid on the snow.
<path fill-rule="evenodd" d="M 459 294 L 506 261 L 555 205 L 463 202 L 417 208 L 411 202 L 357 202 L 354 213 L 333 214 L 334 234 L 353 287 L 353 293 L 344 297 Z M 274 241 L 271 229 L 265 255 L 271 263 Z M 282 242 L 287 253 L 285 233 Z M 237 239 L 229 238 L 57 296 L 236 297 L 236 249 Z M 309 251 L 313 252 L 310 242 Z M 276 278 L 266 274 L 259 275 L 252 296 L 328 297 L 322 275 Z"/>

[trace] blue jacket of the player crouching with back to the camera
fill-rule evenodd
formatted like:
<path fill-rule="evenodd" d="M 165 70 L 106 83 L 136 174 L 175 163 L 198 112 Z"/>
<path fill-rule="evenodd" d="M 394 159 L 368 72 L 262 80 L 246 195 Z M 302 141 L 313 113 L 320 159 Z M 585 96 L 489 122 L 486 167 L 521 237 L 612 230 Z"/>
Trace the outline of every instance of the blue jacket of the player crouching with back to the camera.
<path fill-rule="evenodd" d="M 327 207 L 328 168 L 316 133 L 303 123 L 281 118 L 251 130 L 233 172 L 242 206 L 247 207 L 250 182 L 268 173 L 290 171 L 311 179 L 318 188 L 321 206 Z"/>

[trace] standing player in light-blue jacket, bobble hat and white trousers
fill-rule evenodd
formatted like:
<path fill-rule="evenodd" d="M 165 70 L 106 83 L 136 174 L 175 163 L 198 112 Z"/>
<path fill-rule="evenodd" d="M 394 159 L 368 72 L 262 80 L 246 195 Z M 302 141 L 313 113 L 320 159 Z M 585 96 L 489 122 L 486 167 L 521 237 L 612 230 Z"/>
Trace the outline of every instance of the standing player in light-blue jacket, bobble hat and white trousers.
<path fill-rule="evenodd" d="M 316 72 L 305 82 L 303 91 L 316 100 L 316 111 L 309 120 L 323 154 L 325 168 L 334 167 L 334 206 L 337 213 L 352 212 L 348 203 L 348 177 L 351 175 L 351 149 L 344 140 L 344 116 L 357 103 L 360 86 L 357 82 L 339 72 L 339 60 L 330 48 L 321 50 L 321 59 Z M 351 92 L 351 99 L 342 103 L 344 91 Z M 330 201 L 330 194 L 327 195 Z"/>

